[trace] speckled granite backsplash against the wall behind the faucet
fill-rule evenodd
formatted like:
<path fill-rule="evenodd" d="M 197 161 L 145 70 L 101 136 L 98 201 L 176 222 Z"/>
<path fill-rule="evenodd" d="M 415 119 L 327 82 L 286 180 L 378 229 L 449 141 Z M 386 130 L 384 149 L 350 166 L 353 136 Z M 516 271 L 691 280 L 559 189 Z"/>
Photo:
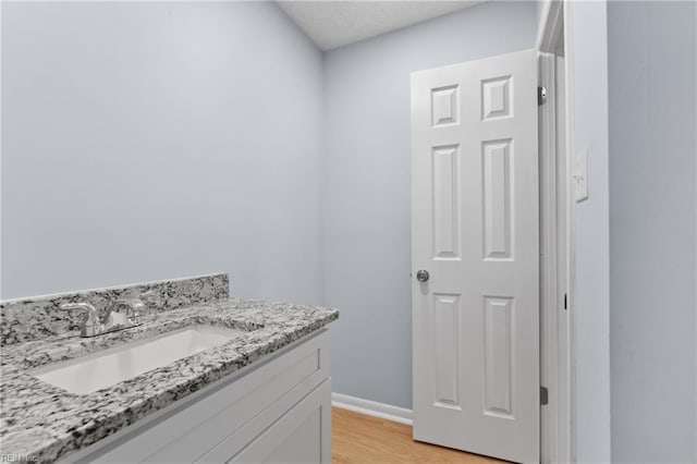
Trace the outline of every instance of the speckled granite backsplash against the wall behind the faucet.
<path fill-rule="evenodd" d="M 228 274 L 218 273 L 0 302 L 0 345 L 77 332 L 85 314 L 62 310 L 59 306 L 63 303 L 91 303 L 103 320 L 113 302 L 122 297 L 146 294 L 142 298 L 149 310 L 160 314 L 194 303 L 228 298 L 229 293 Z"/>

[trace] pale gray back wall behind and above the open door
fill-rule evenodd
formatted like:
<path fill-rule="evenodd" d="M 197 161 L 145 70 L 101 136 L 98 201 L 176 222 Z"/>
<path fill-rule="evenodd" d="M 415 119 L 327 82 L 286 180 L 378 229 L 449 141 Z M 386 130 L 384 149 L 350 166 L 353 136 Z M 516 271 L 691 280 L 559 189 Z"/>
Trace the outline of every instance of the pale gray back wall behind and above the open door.
<path fill-rule="evenodd" d="M 333 389 L 412 404 L 409 73 L 535 46 L 535 2 L 488 2 L 325 54 L 325 301 Z"/>

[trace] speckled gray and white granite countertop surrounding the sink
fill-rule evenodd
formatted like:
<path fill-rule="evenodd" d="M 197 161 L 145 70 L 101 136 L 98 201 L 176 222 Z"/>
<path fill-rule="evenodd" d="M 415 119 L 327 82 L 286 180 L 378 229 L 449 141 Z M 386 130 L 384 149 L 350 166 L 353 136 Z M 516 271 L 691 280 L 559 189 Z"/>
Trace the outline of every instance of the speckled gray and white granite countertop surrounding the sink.
<path fill-rule="evenodd" d="M 195 303 L 133 329 L 84 339 L 75 332 L 2 347 L 2 453 L 52 462 L 161 410 L 339 317 L 335 309 L 249 300 Z M 73 394 L 28 371 L 130 341 L 206 323 L 253 330 L 89 394 Z"/>

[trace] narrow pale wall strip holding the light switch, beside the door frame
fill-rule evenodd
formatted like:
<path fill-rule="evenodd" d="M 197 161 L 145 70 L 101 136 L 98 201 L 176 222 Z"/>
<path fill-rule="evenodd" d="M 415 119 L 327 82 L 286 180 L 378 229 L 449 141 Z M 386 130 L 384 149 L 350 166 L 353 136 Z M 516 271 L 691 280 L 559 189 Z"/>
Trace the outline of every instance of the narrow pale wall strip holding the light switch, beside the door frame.
<path fill-rule="evenodd" d="M 573 86 L 571 156 L 588 150 L 588 199 L 574 204 L 575 261 L 570 291 L 575 319 L 575 445 L 579 463 L 611 460 L 610 215 L 608 168 L 608 5 L 566 2 L 565 29 Z"/>

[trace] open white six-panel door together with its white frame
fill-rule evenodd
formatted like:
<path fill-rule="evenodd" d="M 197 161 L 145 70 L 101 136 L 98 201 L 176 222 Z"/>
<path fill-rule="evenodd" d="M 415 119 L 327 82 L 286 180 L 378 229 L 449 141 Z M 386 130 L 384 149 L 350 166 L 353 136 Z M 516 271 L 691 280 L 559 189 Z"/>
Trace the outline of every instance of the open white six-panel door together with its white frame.
<path fill-rule="evenodd" d="M 573 461 L 563 7 L 536 50 L 412 74 L 416 440 Z"/>

